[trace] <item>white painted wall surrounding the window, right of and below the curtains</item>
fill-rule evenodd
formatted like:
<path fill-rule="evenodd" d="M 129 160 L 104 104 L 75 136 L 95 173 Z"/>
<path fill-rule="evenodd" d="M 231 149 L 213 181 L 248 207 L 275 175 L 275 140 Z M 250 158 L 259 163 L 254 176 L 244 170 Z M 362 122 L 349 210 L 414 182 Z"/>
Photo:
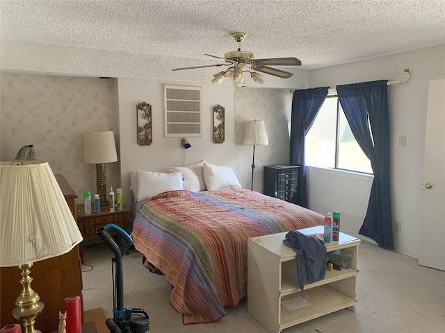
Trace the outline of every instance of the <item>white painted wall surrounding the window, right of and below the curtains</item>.
<path fill-rule="evenodd" d="M 422 228 L 420 198 L 428 80 L 445 73 L 445 45 L 315 69 L 310 71 L 309 78 L 311 87 L 334 87 L 371 80 L 397 80 L 404 69 L 410 69 L 411 79 L 389 87 L 391 204 L 393 222 L 402 223 L 401 232 L 394 232 L 395 247 L 417 257 Z M 405 147 L 398 146 L 400 135 L 406 135 Z M 308 178 L 309 207 L 327 212 L 347 203 L 350 208 L 343 209 L 341 226 L 343 230 L 358 232 L 366 214 L 367 205 L 363 203 L 367 204 L 371 185 L 362 184 L 363 180 L 312 170 Z M 341 202 L 333 198 L 341 198 Z"/>

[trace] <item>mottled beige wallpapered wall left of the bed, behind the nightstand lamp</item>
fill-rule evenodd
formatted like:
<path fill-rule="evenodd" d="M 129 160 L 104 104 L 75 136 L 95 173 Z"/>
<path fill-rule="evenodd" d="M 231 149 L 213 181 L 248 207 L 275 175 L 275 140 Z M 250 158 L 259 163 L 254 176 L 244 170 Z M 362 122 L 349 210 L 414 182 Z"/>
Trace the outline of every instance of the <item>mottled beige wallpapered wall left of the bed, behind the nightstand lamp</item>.
<path fill-rule="evenodd" d="M 2 161 L 35 146 L 36 160 L 62 173 L 76 194 L 96 191 L 95 164 L 83 162 L 83 133 L 113 130 L 118 146 L 116 81 L 99 78 L 1 73 Z M 106 164 L 107 182 L 120 182 L 119 164 Z"/>

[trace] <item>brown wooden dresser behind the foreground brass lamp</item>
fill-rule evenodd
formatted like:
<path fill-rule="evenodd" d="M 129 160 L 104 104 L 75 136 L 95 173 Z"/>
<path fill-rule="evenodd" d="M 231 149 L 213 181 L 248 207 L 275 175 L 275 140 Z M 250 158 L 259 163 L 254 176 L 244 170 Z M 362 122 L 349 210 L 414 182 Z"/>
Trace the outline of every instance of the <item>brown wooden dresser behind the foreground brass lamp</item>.
<path fill-rule="evenodd" d="M 55 175 L 58 185 L 67 200 L 67 204 L 76 219 L 76 192 L 62 175 Z M 42 333 L 56 331 L 58 311 L 62 309 L 63 299 L 69 296 L 82 298 L 82 270 L 79 259 L 79 246 L 69 253 L 51 259 L 35 262 L 31 267 L 31 287 L 44 302 L 44 309 L 35 321 L 35 329 Z M 15 299 L 22 291 L 19 284 L 20 271 L 17 267 L 0 268 L 0 327 L 19 323 L 11 312 L 15 308 Z M 83 316 L 83 302 L 82 316 Z"/>

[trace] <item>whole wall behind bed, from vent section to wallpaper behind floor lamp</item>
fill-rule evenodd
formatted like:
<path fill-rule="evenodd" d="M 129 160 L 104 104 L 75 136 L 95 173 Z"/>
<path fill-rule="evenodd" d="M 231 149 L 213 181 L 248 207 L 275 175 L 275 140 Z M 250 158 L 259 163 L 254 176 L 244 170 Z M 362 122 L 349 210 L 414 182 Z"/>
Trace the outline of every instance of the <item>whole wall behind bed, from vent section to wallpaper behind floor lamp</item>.
<path fill-rule="evenodd" d="M 301 76 L 307 81 L 307 76 Z M 172 84 L 172 83 L 168 83 Z M 190 85 L 189 83 L 174 83 Z M 203 136 L 188 137 L 192 148 L 184 150 L 181 138 L 164 137 L 163 83 L 149 80 L 120 78 L 119 127 L 120 168 L 124 204 L 130 205 L 129 173 L 135 170 L 166 172 L 168 167 L 181 166 L 200 160 L 232 167 L 241 186 L 250 188 L 252 176 L 252 146 L 243 146 L 246 121 L 266 122 L 269 145 L 255 147 L 254 190 L 263 190 L 263 165 L 289 163 L 288 123 L 292 94 L 289 89 L 234 88 L 233 85 L 200 85 L 202 87 Z M 136 104 L 152 105 L 153 143 L 139 146 L 136 142 Z M 225 108 L 225 142 L 214 144 L 212 137 L 213 106 Z"/>

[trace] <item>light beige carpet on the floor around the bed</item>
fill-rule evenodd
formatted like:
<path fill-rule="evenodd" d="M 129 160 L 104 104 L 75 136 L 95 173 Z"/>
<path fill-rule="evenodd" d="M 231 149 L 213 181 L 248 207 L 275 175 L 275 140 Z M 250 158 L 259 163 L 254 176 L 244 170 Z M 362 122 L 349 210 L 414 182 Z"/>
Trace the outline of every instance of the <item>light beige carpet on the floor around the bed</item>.
<path fill-rule="evenodd" d="M 111 250 L 104 244 L 85 249 L 83 307 L 113 309 Z M 169 303 L 170 284 L 150 273 L 136 250 L 124 255 L 124 306 L 149 314 L 150 332 L 266 333 L 249 314 L 244 300 L 228 308 L 216 323 L 183 325 Z M 358 304 L 290 327 L 283 333 L 442 333 L 445 327 L 445 272 L 419 266 L 416 259 L 362 241 L 359 246 Z"/>

